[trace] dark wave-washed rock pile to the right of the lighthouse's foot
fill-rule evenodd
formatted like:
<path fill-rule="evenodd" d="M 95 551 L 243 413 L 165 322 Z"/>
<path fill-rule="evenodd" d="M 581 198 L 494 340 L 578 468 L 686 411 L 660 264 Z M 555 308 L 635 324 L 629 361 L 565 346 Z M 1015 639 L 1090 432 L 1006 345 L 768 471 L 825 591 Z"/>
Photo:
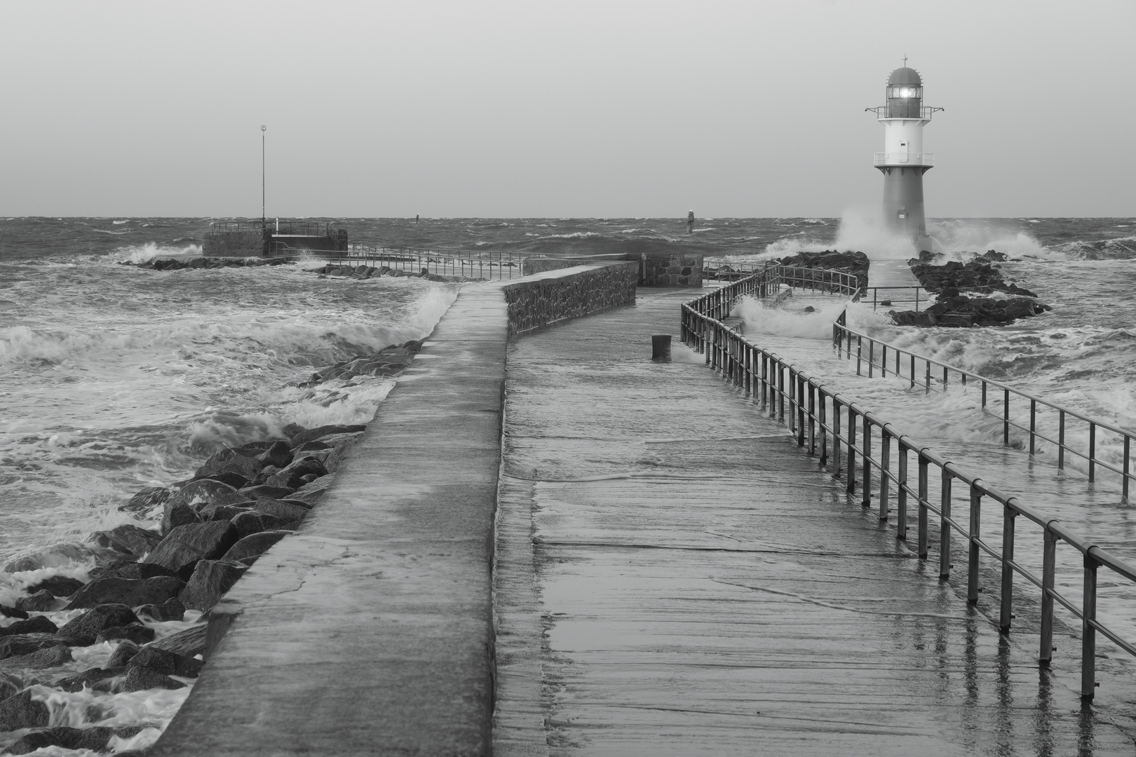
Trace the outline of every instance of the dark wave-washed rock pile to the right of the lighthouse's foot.
<path fill-rule="evenodd" d="M 1003 279 L 996 264 L 1004 254 L 989 250 L 974 260 L 936 262 L 942 255 L 927 251 L 908 261 L 911 272 L 928 292 L 938 295 L 922 312 L 889 311 L 897 326 L 1005 326 L 1051 310 L 1037 295 Z M 991 296 L 994 295 L 994 296 Z"/>

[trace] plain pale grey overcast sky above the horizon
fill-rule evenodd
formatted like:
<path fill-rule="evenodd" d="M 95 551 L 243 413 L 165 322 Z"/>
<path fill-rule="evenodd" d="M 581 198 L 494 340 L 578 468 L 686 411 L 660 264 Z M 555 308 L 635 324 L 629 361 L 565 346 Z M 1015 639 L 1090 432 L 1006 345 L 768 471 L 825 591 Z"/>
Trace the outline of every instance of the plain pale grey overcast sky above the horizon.
<path fill-rule="evenodd" d="M 1136 216 L 1136 2 L 0 3 L 0 215 Z"/>

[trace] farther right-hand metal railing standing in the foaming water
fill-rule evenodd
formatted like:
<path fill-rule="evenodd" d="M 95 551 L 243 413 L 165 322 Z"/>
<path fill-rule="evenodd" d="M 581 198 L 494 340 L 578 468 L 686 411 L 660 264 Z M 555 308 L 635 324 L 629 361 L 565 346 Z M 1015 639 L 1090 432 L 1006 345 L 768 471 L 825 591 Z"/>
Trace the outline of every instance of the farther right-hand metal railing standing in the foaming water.
<path fill-rule="evenodd" d="M 868 336 L 867 334 L 861 334 L 860 331 L 854 331 L 850 329 L 844 320 L 838 319 L 836 323 L 833 325 L 833 347 L 837 351 L 838 355 L 846 354 L 847 359 L 852 359 L 852 340 L 857 342 L 857 375 L 861 375 L 862 362 L 867 363 L 868 377 L 872 377 L 875 370 L 878 368 L 880 376 L 886 376 L 888 369 L 887 358 L 888 352 L 891 352 L 893 358 L 893 365 L 891 371 L 894 376 L 900 378 L 907 378 L 911 386 L 914 387 L 916 381 L 924 384 L 927 392 L 932 390 L 932 387 L 946 392 L 951 385 L 951 377 L 955 378 L 955 386 L 962 387 L 963 389 L 970 386 L 980 386 L 982 388 L 982 411 L 987 415 L 993 415 L 995 418 L 1002 419 L 1002 443 L 1004 445 L 1010 445 L 1010 429 L 1014 428 L 1019 431 L 1028 435 L 1029 439 L 1029 455 L 1035 457 L 1038 453 L 1038 440 L 1046 441 L 1056 447 L 1058 451 L 1058 471 L 1064 471 L 1066 468 L 1066 455 L 1067 453 L 1074 457 L 1079 457 L 1087 463 L 1088 482 L 1096 482 L 1097 469 L 1104 469 L 1111 471 L 1120 477 L 1120 489 L 1121 497 L 1125 502 L 1128 502 L 1128 494 L 1130 490 L 1130 482 L 1136 479 L 1136 473 L 1133 472 L 1133 440 L 1136 439 L 1136 432 L 1127 431 L 1112 423 L 1106 423 L 1088 415 L 1080 413 L 1076 410 L 1070 410 L 1056 403 L 1043 399 L 1028 392 L 1022 392 L 1016 389 L 1009 384 L 1002 381 L 996 381 L 991 378 L 986 378 L 979 373 L 968 371 L 962 368 L 955 368 L 947 363 L 926 358 L 924 355 L 916 354 L 902 347 L 896 347 L 893 344 L 888 344 L 882 339 L 876 339 Z M 867 345 L 867 355 L 864 354 L 864 345 Z M 879 362 L 876 362 L 876 358 L 879 358 Z M 917 379 L 916 367 L 921 362 L 925 371 Z M 907 363 L 907 364 L 904 364 Z M 935 370 L 935 376 L 932 375 L 933 367 Z M 904 368 L 907 369 L 907 376 L 904 376 Z M 942 373 L 939 378 L 938 373 Z M 1001 393 L 1001 402 L 997 398 L 993 401 L 989 397 L 989 388 L 996 389 L 994 394 Z M 1010 397 L 1019 397 L 1022 401 L 1028 401 L 1029 405 L 1029 420 L 1028 422 L 1019 422 L 1013 420 L 1010 414 Z M 1001 413 L 993 412 L 989 410 L 989 405 L 993 404 L 997 406 L 1001 404 Z M 1056 426 L 1058 426 L 1058 438 L 1054 439 L 1051 436 L 1043 434 L 1038 430 L 1038 407 L 1056 412 Z M 1085 451 L 1079 447 L 1075 447 L 1067 443 L 1068 438 L 1068 421 L 1069 419 L 1080 421 L 1085 424 L 1085 430 L 1088 434 L 1088 449 Z M 1122 446 L 1124 460 L 1120 465 L 1110 463 L 1097 456 L 1097 447 L 1103 440 L 1101 438 L 1101 431 L 1113 435 L 1113 441 L 1120 443 Z"/>

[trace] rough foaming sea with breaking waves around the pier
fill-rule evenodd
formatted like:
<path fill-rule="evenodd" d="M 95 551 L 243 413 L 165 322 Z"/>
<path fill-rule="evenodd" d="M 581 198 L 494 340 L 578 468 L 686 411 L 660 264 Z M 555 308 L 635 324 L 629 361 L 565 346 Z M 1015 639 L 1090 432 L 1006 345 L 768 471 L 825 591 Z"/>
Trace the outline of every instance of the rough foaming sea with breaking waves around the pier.
<path fill-rule="evenodd" d="M 119 264 L 199 253 L 214 220 L 227 219 L 0 218 L 0 603 L 45 575 L 82 575 L 100 558 L 92 532 L 137 522 L 119 510 L 136 490 L 191 477 L 226 445 L 287 423 L 367 422 L 391 379 L 298 385 L 320 365 L 428 335 L 459 286 L 476 286 L 320 278 L 299 264 Z M 309 220 L 386 246 L 680 251 L 733 266 L 803 250 L 913 252 L 855 217 L 702 218 L 690 234 L 685 218 Z M 1136 430 L 1136 219 L 937 219 L 929 232 L 949 259 L 1004 253 L 1006 278 L 1052 311 L 997 328 L 916 329 L 891 326 L 870 303 L 829 300 L 813 312 L 743 303 L 746 335 L 832 376 L 904 432 L 1136 563 L 1136 516 L 1116 481 L 1088 487 L 1076 464 L 1058 476 L 1049 453 L 1028 459 L 1020 435 L 1004 447 L 1001 423 L 976 409 L 974 393 L 927 395 L 858 377 L 830 346 L 832 320 L 847 310 L 854 328 L 878 338 Z M 1116 460 L 1116 451 L 1105 454 Z M 992 539 L 999 516 L 984 521 Z M 1037 533 L 1024 538 L 1039 545 Z M 1022 549 L 1024 560 L 1039 554 Z M 1078 577 L 1062 572 L 1061 586 L 1076 594 Z M 1136 638 L 1136 591 L 1119 583 L 1110 582 L 1119 594 L 1108 612 Z M 139 701 L 160 709 L 161 697 L 172 708 L 179 703 Z"/>

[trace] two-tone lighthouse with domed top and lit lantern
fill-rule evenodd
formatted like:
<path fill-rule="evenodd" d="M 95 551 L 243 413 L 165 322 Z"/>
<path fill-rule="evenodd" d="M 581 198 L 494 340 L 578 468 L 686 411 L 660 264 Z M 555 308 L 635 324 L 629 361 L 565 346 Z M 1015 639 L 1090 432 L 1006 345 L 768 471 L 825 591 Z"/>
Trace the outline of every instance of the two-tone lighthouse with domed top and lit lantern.
<path fill-rule="evenodd" d="M 884 174 L 884 225 L 914 243 L 917 250 L 930 250 L 927 218 L 924 215 L 922 175 L 935 165 L 935 155 L 922 150 L 922 127 L 942 108 L 922 104 L 922 78 L 904 66 L 887 77 L 886 106 L 868 108 L 884 125 L 884 152 L 875 155 L 875 166 Z"/>

